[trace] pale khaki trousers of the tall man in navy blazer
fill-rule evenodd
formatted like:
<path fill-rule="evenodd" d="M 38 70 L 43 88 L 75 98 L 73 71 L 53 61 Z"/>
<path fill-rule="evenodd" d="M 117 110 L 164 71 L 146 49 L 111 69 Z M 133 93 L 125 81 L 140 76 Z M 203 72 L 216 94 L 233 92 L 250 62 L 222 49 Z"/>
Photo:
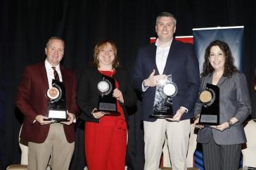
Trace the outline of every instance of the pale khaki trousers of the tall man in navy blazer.
<path fill-rule="evenodd" d="M 162 145 L 167 135 L 167 144 L 173 170 L 186 170 L 186 154 L 190 133 L 190 119 L 180 122 L 168 122 L 157 119 L 155 122 L 143 122 L 145 142 L 144 170 L 159 168 Z"/>

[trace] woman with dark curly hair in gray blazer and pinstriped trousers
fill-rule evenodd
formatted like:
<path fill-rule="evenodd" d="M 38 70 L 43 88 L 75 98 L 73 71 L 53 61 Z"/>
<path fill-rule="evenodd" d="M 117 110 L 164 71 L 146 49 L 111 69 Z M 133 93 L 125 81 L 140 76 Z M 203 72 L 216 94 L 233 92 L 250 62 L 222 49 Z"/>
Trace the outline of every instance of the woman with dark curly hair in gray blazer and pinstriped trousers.
<path fill-rule="evenodd" d="M 223 41 L 215 40 L 205 50 L 200 91 L 206 84 L 219 87 L 219 125 L 196 125 L 198 143 L 203 145 L 205 170 L 236 170 L 241 144 L 246 142 L 243 122 L 250 115 L 250 97 L 243 73 L 233 65 L 231 50 Z M 195 117 L 198 122 L 202 103 L 198 99 Z"/>

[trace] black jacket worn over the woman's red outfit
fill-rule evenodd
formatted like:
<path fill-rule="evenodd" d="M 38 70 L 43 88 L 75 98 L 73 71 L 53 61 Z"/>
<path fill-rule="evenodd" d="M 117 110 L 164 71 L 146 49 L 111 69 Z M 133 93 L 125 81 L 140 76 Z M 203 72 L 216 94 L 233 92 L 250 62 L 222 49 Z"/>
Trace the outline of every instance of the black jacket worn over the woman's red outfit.
<path fill-rule="evenodd" d="M 129 79 L 129 73 L 126 70 L 117 68 L 113 78 L 117 79 L 119 90 L 122 91 L 124 103 L 120 103 L 124 110 L 124 116 L 127 118 L 125 107 L 136 104 L 136 95 Z M 79 118 L 87 122 L 98 122 L 91 112 L 98 105 L 97 84 L 102 79 L 102 74 L 96 67 L 85 67 L 78 81 L 77 86 L 77 105 L 82 111 Z"/>

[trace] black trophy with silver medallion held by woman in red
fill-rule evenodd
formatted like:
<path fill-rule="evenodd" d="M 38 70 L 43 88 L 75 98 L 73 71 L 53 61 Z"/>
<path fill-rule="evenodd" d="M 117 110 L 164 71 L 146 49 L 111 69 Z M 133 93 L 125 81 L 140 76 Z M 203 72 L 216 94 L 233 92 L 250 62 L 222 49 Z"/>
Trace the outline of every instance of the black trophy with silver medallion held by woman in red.
<path fill-rule="evenodd" d="M 103 75 L 101 81 L 98 82 L 98 107 L 97 111 L 117 114 L 117 99 L 113 97 L 115 89 L 115 79 Z"/>

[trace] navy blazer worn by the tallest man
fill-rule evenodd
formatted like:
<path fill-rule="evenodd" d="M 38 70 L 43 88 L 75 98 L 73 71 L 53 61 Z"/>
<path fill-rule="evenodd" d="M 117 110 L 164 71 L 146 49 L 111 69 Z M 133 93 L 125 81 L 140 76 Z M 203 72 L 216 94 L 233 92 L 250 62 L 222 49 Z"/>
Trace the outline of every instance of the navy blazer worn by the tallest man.
<path fill-rule="evenodd" d="M 155 63 L 156 48 L 155 44 L 149 44 L 139 50 L 133 77 L 134 86 L 139 91 L 142 90 L 142 81 L 148 78 L 153 69 L 155 69 L 155 74 L 159 74 Z M 193 106 L 196 103 L 200 86 L 198 59 L 193 52 L 193 46 L 173 39 L 163 74 L 172 74 L 172 81 L 178 87 L 177 95 L 172 98 L 173 112 L 184 106 L 188 112 L 184 113 L 181 120 L 192 118 Z M 149 87 L 143 92 L 142 119 L 145 121 L 156 120 L 149 118 L 153 111 L 154 99 L 155 87 Z"/>

